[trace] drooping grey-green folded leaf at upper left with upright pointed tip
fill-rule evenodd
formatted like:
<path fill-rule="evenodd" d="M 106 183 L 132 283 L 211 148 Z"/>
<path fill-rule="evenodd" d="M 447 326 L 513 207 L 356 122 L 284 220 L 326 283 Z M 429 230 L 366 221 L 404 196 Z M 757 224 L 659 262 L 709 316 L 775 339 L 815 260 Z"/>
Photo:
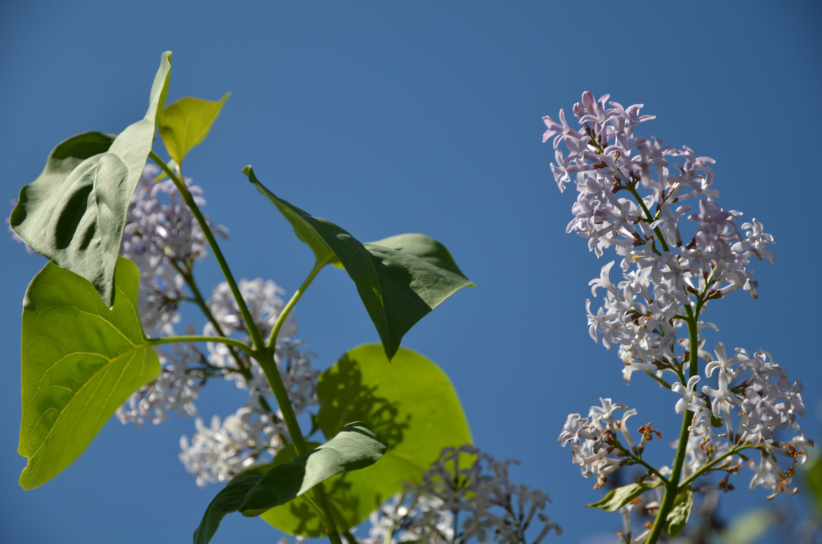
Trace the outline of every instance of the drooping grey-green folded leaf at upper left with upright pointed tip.
<path fill-rule="evenodd" d="M 21 188 L 12 210 L 14 232 L 31 249 L 88 279 L 108 307 L 128 204 L 163 113 L 170 74 L 167 51 L 145 118 L 116 137 L 83 132 L 59 143 L 39 177 Z"/>

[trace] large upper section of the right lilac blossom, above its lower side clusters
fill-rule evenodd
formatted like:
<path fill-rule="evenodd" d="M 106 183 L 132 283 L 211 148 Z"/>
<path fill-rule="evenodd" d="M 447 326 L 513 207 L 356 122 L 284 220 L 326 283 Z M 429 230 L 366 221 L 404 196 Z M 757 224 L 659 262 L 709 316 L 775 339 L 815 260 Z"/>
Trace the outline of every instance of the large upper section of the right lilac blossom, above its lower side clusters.
<path fill-rule="evenodd" d="M 573 180 L 579 191 L 567 232 L 588 238 L 597 256 L 614 247 L 622 257 L 624 281 L 612 284 L 614 263 L 603 266 L 590 285 L 594 296 L 598 288 L 606 290 L 605 304 L 596 313 L 590 301 L 587 307 L 592 338 L 602 336 L 609 349 L 619 346 L 630 380 L 631 371 L 672 367 L 678 357 L 676 330 L 683 324 L 677 316 L 695 304 L 696 295 L 704 299 L 703 307 L 738 288 L 757 297 L 758 284 L 746 265 L 751 257 L 773 262 L 774 254 L 764 247 L 774 238 L 756 219 L 737 225 L 741 213 L 718 205 L 719 193 L 710 188 L 713 159 L 697 157 L 687 146 L 676 150 L 658 138 L 634 136 L 635 127 L 653 116 L 640 116 L 642 104 L 626 109 L 611 102 L 607 108 L 608 98 L 594 101 L 586 92 L 574 105 L 581 132 L 568 125 L 563 111 L 561 124 L 543 118 L 548 127 L 543 141 L 556 135 L 551 168 L 560 190 Z M 567 155 L 558 149 L 563 141 Z M 627 197 L 618 198 L 620 191 Z M 699 199 L 698 212 L 677 206 L 688 199 Z M 683 217 L 696 230 L 687 243 L 679 224 Z"/>

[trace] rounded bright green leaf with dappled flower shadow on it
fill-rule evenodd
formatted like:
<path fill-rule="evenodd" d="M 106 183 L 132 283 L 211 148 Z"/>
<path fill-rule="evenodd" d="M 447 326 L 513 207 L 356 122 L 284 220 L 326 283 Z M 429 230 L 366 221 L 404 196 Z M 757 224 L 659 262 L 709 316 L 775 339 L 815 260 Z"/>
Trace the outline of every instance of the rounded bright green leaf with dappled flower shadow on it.
<path fill-rule="evenodd" d="M 446 373 L 408 348 L 399 348 L 391 362 L 378 343 L 351 349 L 321 374 L 317 397 L 321 407 L 317 419 L 326 436 L 334 436 L 344 422 L 356 419 L 388 445 L 385 457 L 373 467 L 326 482 L 326 495 L 340 527 L 362 522 L 402 491 L 404 482 L 421 482 L 443 448 L 472 442 Z M 312 510 L 296 501 L 271 509 L 262 518 L 289 534 L 325 534 Z"/>

